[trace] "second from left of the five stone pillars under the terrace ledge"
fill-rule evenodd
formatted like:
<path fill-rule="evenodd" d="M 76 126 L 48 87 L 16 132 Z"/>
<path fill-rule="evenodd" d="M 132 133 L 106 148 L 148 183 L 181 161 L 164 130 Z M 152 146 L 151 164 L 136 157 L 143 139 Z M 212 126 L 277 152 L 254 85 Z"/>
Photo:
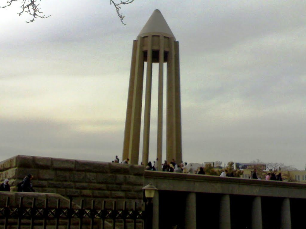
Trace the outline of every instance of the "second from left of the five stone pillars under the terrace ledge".
<path fill-rule="evenodd" d="M 196 228 L 196 193 L 190 192 L 186 197 L 185 229 Z"/>

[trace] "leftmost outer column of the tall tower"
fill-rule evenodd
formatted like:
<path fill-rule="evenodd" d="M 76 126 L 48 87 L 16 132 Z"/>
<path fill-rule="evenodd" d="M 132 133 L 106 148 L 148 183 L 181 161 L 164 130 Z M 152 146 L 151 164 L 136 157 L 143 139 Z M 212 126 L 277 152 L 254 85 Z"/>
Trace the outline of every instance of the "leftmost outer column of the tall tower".
<path fill-rule="evenodd" d="M 132 62 L 131 62 L 131 71 L 130 71 L 128 102 L 126 105 L 123 153 L 121 158 L 122 161 L 129 157 L 129 142 L 130 142 L 130 133 L 131 133 L 131 119 L 132 119 L 132 106 L 133 106 L 134 81 L 135 81 L 136 50 L 137 50 L 137 41 L 134 40 L 133 49 L 132 49 Z"/>

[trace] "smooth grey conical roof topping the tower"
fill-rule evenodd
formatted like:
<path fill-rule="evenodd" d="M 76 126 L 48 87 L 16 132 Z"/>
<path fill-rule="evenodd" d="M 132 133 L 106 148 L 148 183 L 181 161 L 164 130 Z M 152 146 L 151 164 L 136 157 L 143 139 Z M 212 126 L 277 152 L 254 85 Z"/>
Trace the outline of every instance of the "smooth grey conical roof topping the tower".
<path fill-rule="evenodd" d="M 171 29 L 169 28 L 165 18 L 162 16 L 162 13 L 160 13 L 158 9 L 154 10 L 151 17 L 149 18 L 147 23 L 144 25 L 144 27 L 142 28 L 138 36 L 141 37 L 144 34 L 152 33 L 152 32 L 167 34 L 170 37 L 173 37 L 175 40 L 175 37 Z"/>

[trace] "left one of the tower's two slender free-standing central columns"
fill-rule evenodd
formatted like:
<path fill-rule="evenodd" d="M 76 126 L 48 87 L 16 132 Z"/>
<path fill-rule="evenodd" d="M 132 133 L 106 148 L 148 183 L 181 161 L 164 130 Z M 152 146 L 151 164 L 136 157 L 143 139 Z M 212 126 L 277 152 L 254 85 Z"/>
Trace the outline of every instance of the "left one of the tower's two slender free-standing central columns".
<path fill-rule="evenodd" d="M 151 116 L 151 88 L 152 88 L 152 35 L 148 36 L 147 49 L 147 79 L 146 79 L 146 97 L 144 104 L 144 141 L 142 151 L 142 162 L 147 165 L 149 158 L 149 140 L 150 140 L 150 116 Z"/>

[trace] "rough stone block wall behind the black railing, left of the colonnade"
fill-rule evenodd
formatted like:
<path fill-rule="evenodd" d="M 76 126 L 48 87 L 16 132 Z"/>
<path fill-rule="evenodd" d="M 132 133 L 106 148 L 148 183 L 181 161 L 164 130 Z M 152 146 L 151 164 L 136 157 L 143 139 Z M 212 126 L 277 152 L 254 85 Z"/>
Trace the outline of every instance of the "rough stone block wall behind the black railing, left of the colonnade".
<path fill-rule="evenodd" d="M 144 166 L 18 155 L 0 162 L 0 179 L 11 191 L 29 173 L 35 192 L 57 193 L 74 200 L 107 199 L 140 202 Z"/>

